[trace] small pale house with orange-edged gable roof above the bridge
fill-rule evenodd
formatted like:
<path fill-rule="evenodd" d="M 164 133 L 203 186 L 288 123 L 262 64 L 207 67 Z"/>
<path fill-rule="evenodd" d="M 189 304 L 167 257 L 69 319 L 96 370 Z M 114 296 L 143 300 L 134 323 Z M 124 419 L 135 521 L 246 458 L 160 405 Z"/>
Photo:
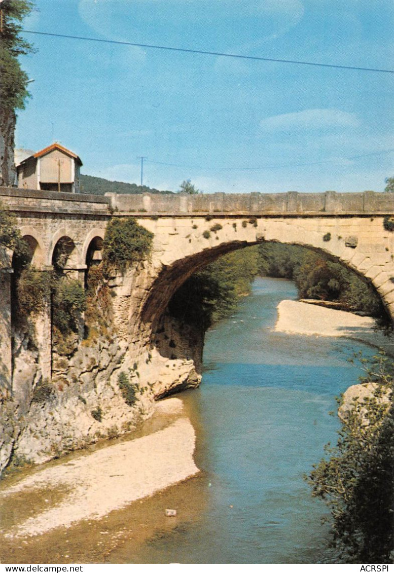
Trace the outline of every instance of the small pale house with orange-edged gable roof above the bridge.
<path fill-rule="evenodd" d="M 18 187 L 79 193 L 81 165 L 78 155 L 53 143 L 17 165 Z"/>

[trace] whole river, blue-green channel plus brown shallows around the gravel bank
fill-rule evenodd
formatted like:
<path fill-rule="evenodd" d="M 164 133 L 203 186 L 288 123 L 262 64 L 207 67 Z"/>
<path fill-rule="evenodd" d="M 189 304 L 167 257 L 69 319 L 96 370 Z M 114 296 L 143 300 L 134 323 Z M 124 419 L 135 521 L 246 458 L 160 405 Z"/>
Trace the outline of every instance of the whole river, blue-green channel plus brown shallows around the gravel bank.
<path fill-rule="evenodd" d="M 207 332 L 202 384 L 179 394 L 196 431 L 198 476 L 101 520 L 22 544 L 3 537 L 3 563 L 332 560 L 328 525 L 320 523 L 327 510 L 312 499 L 303 475 L 320 460 L 324 444 L 336 441 L 338 419 L 329 411 L 360 374 L 348 358 L 373 350 L 344 338 L 274 332 L 278 303 L 296 297 L 292 282 L 258 278 L 237 313 Z M 163 423 L 170 421 L 153 417 L 137 436 Z M 84 455 L 51 464 L 72 466 Z M 28 499 L 14 496 L 0 508 L 2 527 L 56 504 L 67 492 L 27 493 Z M 165 517 L 164 508 L 178 516 Z"/>

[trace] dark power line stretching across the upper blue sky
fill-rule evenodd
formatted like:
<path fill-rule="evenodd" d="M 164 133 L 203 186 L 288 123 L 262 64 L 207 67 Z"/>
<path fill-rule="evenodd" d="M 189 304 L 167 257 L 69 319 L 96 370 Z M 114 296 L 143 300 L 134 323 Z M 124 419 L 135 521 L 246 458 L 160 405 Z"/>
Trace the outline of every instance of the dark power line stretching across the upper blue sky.
<path fill-rule="evenodd" d="M 209 52 L 208 50 L 192 50 L 190 48 L 174 48 L 171 46 L 159 46 L 155 44 L 137 44 L 136 42 L 121 42 L 119 40 L 103 40 L 102 38 L 89 38 L 85 36 L 69 36 L 68 34 L 54 34 L 50 32 L 33 32 L 23 30 L 26 34 L 38 34 L 39 36 L 52 36 L 54 38 L 68 38 L 69 40 L 86 40 L 89 42 L 101 42 L 103 44 L 119 44 L 123 46 L 135 46 L 136 48 L 152 48 L 155 50 L 170 50 L 171 52 L 185 52 L 189 54 L 203 54 L 204 56 L 222 56 L 225 58 L 239 58 L 241 60 L 255 60 L 263 62 L 279 62 L 280 64 L 297 64 L 304 66 L 317 66 L 320 68 L 337 68 L 343 70 L 356 70 L 358 72 L 394 73 L 394 70 L 379 68 L 363 68 L 361 66 L 342 66 L 338 64 L 320 64 L 301 60 L 284 60 L 279 58 L 263 58 L 261 56 L 242 56 L 241 54 L 227 54 L 223 52 Z"/>

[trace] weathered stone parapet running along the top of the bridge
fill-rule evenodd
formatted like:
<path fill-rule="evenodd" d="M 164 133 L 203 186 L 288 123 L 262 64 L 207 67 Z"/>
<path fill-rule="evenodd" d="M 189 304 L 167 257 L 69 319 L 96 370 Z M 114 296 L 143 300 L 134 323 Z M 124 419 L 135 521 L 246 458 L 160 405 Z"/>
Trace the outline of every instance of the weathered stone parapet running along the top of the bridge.
<path fill-rule="evenodd" d="M 146 193 L 84 195 L 0 187 L 0 202 L 10 211 L 146 217 L 220 215 L 329 216 L 393 214 L 394 194 L 375 193 Z"/>

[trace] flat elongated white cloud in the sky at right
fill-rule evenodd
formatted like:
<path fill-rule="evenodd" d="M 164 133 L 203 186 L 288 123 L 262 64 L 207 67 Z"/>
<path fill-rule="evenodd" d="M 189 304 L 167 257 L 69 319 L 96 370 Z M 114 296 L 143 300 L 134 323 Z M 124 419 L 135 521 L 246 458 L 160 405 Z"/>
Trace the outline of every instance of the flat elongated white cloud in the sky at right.
<path fill-rule="evenodd" d="M 355 113 L 340 109 L 304 109 L 295 113 L 282 113 L 266 117 L 260 127 L 266 132 L 302 131 L 306 129 L 332 129 L 358 127 L 360 122 Z"/>

